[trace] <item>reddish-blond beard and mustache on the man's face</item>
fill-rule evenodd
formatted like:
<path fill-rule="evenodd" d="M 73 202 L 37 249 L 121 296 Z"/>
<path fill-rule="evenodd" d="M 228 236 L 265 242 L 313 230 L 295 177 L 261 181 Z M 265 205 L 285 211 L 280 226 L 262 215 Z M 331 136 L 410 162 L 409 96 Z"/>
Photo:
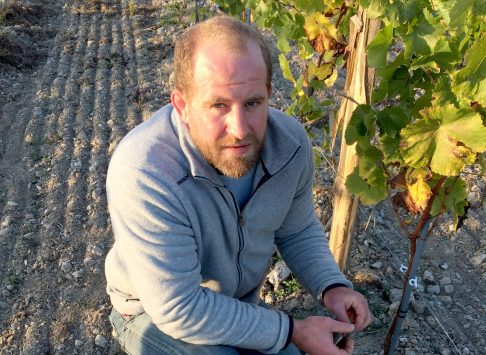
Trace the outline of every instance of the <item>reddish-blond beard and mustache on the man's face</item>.
<path fill-rule="evenodd" d="M 192 141 L 202 156 L 219 173 L 237 179 L 246 175 L 260 159 L 264 139 L 258 140 L 250 134 L 244 139 L 225 137 L 216 142 L 207 142 L 199 136 L 191 134 Z M 231 145 L 250 144 L 251 151 L 245 154 L 225 154 L 225 147 Z"/>

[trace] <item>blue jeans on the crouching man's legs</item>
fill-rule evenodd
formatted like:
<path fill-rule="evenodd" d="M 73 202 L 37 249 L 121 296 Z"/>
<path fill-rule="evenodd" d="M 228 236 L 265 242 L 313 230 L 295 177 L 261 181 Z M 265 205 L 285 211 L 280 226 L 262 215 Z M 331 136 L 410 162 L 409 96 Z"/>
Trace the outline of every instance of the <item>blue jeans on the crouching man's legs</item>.
<path fill-rule="evenodd" d="M 196 345 L 185 343 L 162 333 L 146 313 L 138 316 L 122 317 L 115 309 L 110 314 L 110 322 L 118 342 L 130 355 L 256 355 L 255 350 L 232 348 L 224 345 Z M 300 355 L 294 344 L 278 355 Z"/>

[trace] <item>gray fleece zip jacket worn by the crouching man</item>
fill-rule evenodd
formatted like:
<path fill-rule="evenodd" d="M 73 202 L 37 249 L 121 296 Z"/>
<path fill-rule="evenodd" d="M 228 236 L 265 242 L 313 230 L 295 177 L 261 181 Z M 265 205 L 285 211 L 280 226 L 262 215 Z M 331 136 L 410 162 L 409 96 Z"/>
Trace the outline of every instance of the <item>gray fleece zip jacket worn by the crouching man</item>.
<path fill-rule="evenodd" d="M 113 306 L 146 312 L 188 343 L 278 352 L 289 319 L 258 306 L 274 244 L 316 299 L 331 284 L 351 286 L 314 213 L 312 179 L 304 129 L 270 108 L 252 196 L 240 210 L 172 106 L 163 107 L 122 140 L 108 169 Z"/>

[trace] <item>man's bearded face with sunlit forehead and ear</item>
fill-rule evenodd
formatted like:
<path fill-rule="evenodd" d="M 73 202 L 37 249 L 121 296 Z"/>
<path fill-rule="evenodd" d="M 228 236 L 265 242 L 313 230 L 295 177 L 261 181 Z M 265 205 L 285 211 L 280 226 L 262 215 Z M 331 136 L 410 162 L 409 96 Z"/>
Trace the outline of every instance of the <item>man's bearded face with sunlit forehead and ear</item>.
<path fill-rule="evenodd" d="M 248 44 L 236 55 L 201 45 L 190 95 L 178 90 L 172 102 L 192 141 L 222 174 L 245 175 L 256 164 L 267 126 L 270 88 L 260 48 Z"/>

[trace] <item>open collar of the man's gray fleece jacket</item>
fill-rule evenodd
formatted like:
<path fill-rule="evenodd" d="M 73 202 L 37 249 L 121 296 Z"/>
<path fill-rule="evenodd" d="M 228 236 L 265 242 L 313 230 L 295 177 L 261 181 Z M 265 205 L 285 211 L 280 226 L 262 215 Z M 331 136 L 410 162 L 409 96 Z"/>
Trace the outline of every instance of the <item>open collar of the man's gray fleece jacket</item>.
<path fill-rule="evenodd" d="M 280 111 L 269 108 L 263 151 L 255 174 L 256 181 L 259 181 L 263 175 L 270 174 L 271 176 L 277 173 L 292 159 L 300 148 L 297 139 L 282 124 L 278 123 L 278 120 L 286 119 L 281 117 L 282 115 Z M 207 162 L 195 147 L 187 126 L 178 118 L 174 109 L 171 112 L 171 121 L 179 137 L 181 149 L 189 163 L 192 176 L 207 179 L 221 187 L 224 186 L 224 182 L 216 169 Z"/>

